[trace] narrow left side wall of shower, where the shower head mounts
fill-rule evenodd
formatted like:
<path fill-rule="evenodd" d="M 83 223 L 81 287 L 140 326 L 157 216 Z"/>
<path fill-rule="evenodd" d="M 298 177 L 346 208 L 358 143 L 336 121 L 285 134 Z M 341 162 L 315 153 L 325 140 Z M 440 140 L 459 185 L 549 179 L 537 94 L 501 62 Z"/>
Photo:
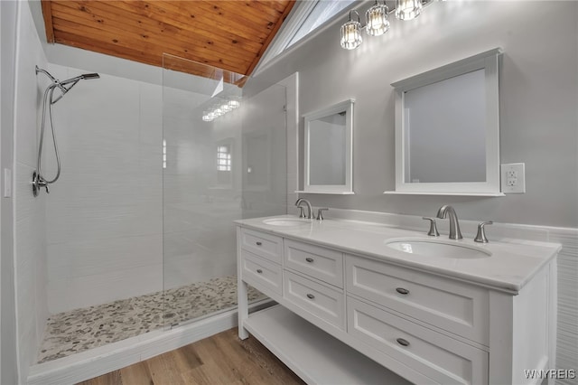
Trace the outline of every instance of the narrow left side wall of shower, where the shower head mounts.
<path fill-rule="evenodd" d="M 35 66 L 47 62 L 30 7 L 18 3 L 14 95 L 14 291 L 18 373 L 25 379 L 42 339 L 48 316 L 46 298 L 45 192 L 34 198 L 30 184 L 36 167 L 42 92 L 50 84 Z"/>

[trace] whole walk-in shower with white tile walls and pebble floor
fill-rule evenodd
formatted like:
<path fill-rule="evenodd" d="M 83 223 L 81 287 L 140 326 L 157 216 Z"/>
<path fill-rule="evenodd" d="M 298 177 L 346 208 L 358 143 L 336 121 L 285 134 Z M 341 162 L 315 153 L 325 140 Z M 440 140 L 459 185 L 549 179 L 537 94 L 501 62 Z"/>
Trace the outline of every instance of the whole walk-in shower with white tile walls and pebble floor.
<path fill-rule="evenodd" d="M 53 106 L 62 174 L 33 198 L 49 82 L 28 67 L 57 79 L 98 69 L 47 62 L 28 26 L 17 55 L 36 54 L 23 60 L 17 88 L 27 91 L 16 103 L 37 114 L 17 114 L 29 129 L 15 140 L 16 286 L 29 304 L 18 309 L 20 372 L 235 308 L 233 221 L 286 211 L 284 87 L 168 56 L 146 79 L 100 70 Z M 238 108 L 203 120 L 230 100 Z M 52 154 L 49 141 L 49 176 Z"/>

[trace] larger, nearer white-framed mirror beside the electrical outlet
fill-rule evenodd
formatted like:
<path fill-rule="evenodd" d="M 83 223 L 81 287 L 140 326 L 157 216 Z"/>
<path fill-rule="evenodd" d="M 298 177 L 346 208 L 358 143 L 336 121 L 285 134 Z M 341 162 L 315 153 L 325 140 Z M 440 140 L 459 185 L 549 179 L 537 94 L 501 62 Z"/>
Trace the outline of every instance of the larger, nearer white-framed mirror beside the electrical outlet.
<path fill-rule="evenodd" d="M 396 91 L 393 193 L 502 195 L 500 55 L 499 49 L 482 52 L 392 84 Z"/>

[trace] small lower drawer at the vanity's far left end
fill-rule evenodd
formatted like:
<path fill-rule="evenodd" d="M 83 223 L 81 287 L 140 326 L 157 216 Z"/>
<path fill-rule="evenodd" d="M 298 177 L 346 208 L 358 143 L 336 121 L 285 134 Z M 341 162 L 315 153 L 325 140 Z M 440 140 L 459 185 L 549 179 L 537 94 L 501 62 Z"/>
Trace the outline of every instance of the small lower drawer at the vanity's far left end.
<path fill-rule="evenodd" d="M 264 292 L 269 289 L 281 296 L 283 279 L 281 265 L 259 258 L 247 250 L 241 251 L 241 275 L 248 284 Z M 260 288 L 263 286 L 263 288 Z"/>

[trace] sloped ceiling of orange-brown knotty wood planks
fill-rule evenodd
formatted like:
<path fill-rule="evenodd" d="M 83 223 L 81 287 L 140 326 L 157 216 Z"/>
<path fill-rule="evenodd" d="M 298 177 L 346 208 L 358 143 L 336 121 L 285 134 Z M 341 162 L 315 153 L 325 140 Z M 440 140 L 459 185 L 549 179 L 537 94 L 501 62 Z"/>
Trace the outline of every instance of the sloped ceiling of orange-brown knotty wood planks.
<path fill-rule="evenodd" d="M 169 53 L 249 75 L 294 2 L 42 0 L 42 13 L 48 42 L 159 67 Z M 207 70 L 171 62 L 173 70 Z"/>

